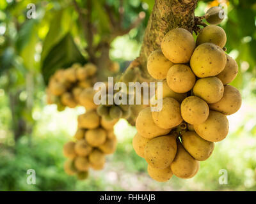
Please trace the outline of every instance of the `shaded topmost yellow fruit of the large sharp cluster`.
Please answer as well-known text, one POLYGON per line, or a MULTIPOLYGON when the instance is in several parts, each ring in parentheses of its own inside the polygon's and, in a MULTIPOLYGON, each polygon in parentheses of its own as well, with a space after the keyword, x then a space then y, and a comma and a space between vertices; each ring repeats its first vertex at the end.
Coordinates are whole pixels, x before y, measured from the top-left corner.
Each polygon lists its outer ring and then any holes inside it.
POLYGON ((200 31, 196 38, 196 46, 202 43, 214 43, 223 48, 227 42, 227 36, 222 27, 218 25, 208 25, 200 31))

